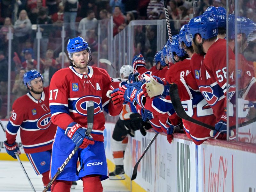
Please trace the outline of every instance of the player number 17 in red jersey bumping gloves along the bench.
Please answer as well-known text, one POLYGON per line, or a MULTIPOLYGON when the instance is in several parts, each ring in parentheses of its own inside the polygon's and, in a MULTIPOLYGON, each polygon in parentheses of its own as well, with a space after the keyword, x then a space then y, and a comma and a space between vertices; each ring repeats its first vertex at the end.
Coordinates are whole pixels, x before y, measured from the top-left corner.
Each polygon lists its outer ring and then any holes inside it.
POLYGON ((81 179, 84 192, 102 192, 101 181, 108 178, 103 110, 116 116, 122 106, 114 106, 106 95, 109 89, 113 89, 107 71, 87 66, 92 59, 87 42, 81 37, 69 39, 67 51, 71 66, 57 71, 50 84, 52 122, 58 126, 52 146, 50 177, 56 174, 76 146, 79 149, 53 182, 52 191, 69 192, 71 181, 81 179), (91 135, 87 136, 86 104, 90 100, 94 103, 94 124, 91 135), (79 172, 76 169, 78 158, 79 172))

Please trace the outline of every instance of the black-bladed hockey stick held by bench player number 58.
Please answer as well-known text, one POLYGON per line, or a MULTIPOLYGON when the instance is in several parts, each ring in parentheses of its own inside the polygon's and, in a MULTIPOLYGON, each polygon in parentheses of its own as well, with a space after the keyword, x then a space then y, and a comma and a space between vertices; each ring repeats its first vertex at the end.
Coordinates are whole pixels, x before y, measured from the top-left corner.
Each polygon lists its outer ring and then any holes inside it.
MULTIPOLYGON (((197 121, 196 119, 193 119, 192 117, 188 116, 188 114, 185 112, 185 110, 184 110, 184 108, 181 104, 179 91, 178 91, 178 86, 175 83, 170 86, 170 97, 171 97, 171 100, 172 100, 173 108, 174 108, 175 112, 177 113, 177 115, 180 118, 185 119, 187 121, 190 121, 194 124, 201 125, 201 126, 207 128, 207 129, 215 130, 215 127, 213 127, 212 125, 205 124, 201 121, 197 121)), ((254 118, 252 118, 252 119, 250 119, 246 122, 240 123, 238 125, 238 128, 240 128, 242 126, 245 126, 245 125, 248 125, 248 124, 251 124, 255 121, 256 121, 256 117, 254 117, 254 118)), ((231 126, 229 129, 230 130, 236 129, 236 125, 231 126)))

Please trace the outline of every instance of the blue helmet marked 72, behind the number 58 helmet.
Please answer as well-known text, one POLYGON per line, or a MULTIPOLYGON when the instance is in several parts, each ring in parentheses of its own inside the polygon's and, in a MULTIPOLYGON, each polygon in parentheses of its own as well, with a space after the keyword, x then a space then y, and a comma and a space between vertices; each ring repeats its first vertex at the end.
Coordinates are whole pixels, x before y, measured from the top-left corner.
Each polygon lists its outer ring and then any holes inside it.
POLYGON ((203 15, 210 14, 215 19, 218 28, 226 29, 226 9, 224 7, 208 7, 203 15))

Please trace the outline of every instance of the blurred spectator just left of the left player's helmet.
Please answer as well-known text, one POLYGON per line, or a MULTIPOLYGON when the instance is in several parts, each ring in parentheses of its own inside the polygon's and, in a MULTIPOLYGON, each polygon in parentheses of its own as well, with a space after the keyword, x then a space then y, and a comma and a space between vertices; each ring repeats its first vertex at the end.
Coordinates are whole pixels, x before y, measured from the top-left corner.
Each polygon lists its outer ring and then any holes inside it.
POLYGON ((13 101, 15 101, 20 96, 28 93, 28 89, 25 87, 23 83, 23 75, 25 74, 25 72, 26 70, 24 68, 20 68, 20 73, 18 75, 18 78, 15 80, 12 88, 12 94, 14 95, 13 101))

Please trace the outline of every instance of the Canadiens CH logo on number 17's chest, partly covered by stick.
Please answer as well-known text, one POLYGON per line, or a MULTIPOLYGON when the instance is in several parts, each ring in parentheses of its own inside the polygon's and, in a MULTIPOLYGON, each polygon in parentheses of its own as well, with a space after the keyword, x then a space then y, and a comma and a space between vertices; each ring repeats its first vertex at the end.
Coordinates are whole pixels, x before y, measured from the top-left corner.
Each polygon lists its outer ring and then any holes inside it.
POLYGON ((98 96, 84 96, 80 97, 77 99, 75 107, 76 111, 84 116, 87 116, 87 109, 86 105, 88 101, 93 101, 94 103, 94 115, 97 113, 100 113, 102 111, 102 106, 101 106, 101 98, 98 96))

